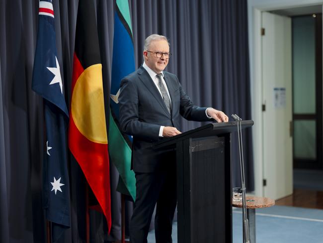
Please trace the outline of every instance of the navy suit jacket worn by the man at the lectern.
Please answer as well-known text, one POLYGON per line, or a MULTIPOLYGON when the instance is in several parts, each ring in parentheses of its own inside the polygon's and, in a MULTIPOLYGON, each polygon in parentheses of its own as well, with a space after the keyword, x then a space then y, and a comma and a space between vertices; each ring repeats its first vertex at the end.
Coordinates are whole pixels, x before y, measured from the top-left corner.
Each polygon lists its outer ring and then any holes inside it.
POLYGON ((120 125, 123 132, 133 136, 132 169, 135 172, 155 172, 174 163, 174 151, 154 149, 161 125, 179 127, 182 116, 192 121, 211 121, 206 108, 194 106, 182 90, 178 78, 163 71, 171 99, 171 114, 154 81, 143 66, 122 79, 120 84, 120 125))

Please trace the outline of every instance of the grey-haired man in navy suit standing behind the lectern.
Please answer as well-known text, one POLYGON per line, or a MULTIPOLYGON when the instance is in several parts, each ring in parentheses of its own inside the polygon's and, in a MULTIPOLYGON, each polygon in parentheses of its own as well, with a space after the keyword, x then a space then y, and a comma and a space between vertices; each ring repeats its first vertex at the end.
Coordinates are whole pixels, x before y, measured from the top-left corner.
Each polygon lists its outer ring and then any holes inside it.
POLYGON ((213 108, 194 106, 174 74, 163 71, 171 53, 167 38, 146 38, 144 64, 123 78, 119 107, 122 130, 133 136, 132 169, 136 175, 136 202, 130 223, 130 242, 147 243, 155 205, 156 243, 171 243, 176 208, 176 161, 172 149, 154 149, 163 137, 180 134, 179 118, 228 122, 213 108))

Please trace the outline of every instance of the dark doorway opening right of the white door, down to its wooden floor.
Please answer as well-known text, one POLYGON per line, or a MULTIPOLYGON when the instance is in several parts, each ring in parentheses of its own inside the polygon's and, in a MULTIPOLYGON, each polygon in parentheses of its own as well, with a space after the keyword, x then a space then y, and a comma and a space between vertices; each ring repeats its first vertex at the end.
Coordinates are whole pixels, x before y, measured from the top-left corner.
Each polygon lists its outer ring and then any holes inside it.
POLYGON ((295 206, 322 208, 323 204, 318 203, 323 200, 322 13, 293 16, 292 23, 294 64, 292 201, 295 206))

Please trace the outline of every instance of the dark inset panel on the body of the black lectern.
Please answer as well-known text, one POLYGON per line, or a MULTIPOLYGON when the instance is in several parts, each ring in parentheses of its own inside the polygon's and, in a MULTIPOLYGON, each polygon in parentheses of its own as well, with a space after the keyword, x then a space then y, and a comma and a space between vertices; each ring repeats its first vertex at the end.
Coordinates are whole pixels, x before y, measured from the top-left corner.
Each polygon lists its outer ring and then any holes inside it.
POLYGON ((225 139, 190 141, 191 242, 226 241, 225 139))

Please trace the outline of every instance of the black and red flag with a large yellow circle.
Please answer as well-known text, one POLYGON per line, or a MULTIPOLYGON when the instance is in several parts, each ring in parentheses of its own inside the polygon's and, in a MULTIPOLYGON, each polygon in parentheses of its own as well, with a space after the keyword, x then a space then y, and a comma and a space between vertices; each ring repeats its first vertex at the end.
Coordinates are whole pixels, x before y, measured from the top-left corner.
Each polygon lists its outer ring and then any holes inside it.
POLYGON ((93 0, 80 0, 70 109, 69 147, 111 228, 110 175, 102 65, 93 0))

